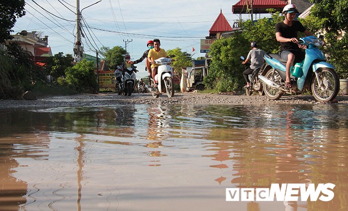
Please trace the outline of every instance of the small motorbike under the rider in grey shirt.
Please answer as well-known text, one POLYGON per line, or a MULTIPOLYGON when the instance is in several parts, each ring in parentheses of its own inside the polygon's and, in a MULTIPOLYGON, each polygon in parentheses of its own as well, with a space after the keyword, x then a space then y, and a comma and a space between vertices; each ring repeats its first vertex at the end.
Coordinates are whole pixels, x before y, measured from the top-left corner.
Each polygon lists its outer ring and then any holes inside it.
MULTIPOLYGON (((244 61, 245 58, 241 56, 241 61, 244 61)), ((247 70, 250 67, 251 63, 248 62, 245 64, 245 70, 247 70)), ((259 74, 262 73, 264 64, 255 69, 251 74, 248 75, 249 82, 250 82, 250 87, 245 87, 245 93, 246 95, 250 96, 253 94, 253 92, 259 92, 259 95, 263 95, 263 90, 262 90, 262 83, 259 79, 259 74)))

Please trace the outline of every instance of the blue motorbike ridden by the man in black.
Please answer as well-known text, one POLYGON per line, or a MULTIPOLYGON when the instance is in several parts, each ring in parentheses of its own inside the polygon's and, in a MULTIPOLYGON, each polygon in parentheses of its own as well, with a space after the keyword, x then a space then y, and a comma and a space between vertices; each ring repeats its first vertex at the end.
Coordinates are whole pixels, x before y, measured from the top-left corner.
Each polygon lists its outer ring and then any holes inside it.
POLYGON ((340 90, 340 81, 335 67, 326 62, 325 54, 318 48, 324 42, 315 36, 308 36, 300 38, 299 44, 307 47, 306 55, 302 63, 296 63, 290 69, 291 88, 285 86, 286 61, 279 54, 264 55, 266 66, 259 75, 264 94, 270 100, 277 100, 285 93, 301 93, 309 88, 317 101, 332 101, 340 90))

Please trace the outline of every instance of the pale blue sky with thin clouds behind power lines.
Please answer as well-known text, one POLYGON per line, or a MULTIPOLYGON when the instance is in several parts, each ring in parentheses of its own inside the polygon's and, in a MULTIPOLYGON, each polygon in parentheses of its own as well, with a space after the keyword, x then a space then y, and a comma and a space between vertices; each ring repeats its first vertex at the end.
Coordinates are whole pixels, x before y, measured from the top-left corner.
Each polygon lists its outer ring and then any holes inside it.
MULTIPOLYGON (((158 38, 165 50, 178 47, 191 53, 192 58, 201 57, 205 54, 200 53, 200 39, 209 36, 220 9, 231 27, 239 19, 239 15, 232 13, 232 5, 238 0, 101 0, 91 5, 97 1, 80 0, 82 43, 85 53, 92 56, 103 46, 125 48, 127 43, 134 61, 147 49, 147 41, 158 38)), ((59 52, 74 55, 77 0, 25 2, 26 15, 17 18, 12 34, 37 31, 41 37, 48 36, 53 55, 59 52)), ((145 61, 136 66, 138 79, 147 76, 145 61)))

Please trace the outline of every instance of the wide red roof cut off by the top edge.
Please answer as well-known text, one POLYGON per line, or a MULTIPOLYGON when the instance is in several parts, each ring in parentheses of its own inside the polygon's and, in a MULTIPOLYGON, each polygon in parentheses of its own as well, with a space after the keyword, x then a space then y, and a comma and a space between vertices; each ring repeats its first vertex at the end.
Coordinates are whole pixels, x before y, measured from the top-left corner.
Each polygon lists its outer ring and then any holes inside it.
MULTIPOLYGON (((240 0, 232 6, 232 13, 246 12, 251 8, 251 0, 240 0)), ((286 5, 285 0, 253 0, 253 13, 268 13, 266 9, 275 8, 277 11, 282 11, 286 5)))

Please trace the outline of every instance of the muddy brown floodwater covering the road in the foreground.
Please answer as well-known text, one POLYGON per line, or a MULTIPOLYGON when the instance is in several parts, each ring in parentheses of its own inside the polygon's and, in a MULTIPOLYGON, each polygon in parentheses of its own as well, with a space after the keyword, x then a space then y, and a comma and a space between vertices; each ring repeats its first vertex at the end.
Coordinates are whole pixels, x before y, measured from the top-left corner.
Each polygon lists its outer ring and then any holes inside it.
POLYGON ((346 211, 345 104, 0 110, 0 211, 346 211), (334 198, 226 202, 333 183, 334 198))

